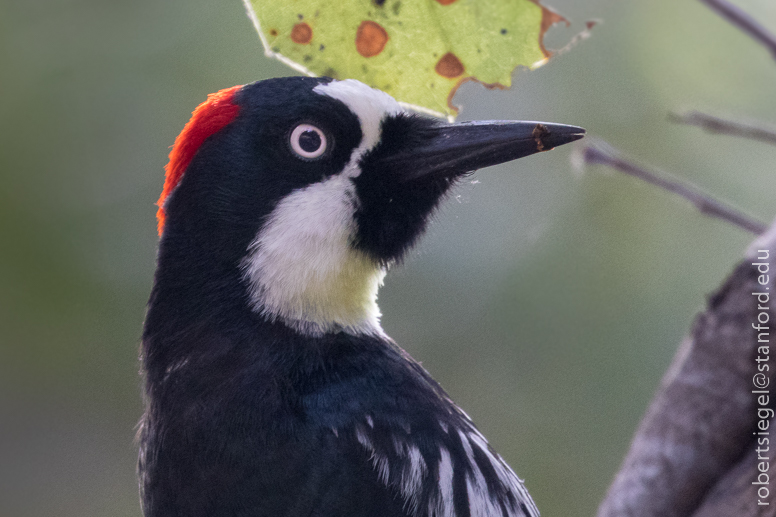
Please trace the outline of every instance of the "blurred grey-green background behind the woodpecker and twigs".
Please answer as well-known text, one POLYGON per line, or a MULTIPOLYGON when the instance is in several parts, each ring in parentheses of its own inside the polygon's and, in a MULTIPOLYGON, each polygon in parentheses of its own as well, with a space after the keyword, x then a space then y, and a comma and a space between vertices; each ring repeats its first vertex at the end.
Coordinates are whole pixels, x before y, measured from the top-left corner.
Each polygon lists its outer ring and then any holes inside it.
MULTIPOLYGON (((460 120, 578 124, 770 221, 776 63, 700 2, 547 0, 593 36, 460 120)), ((776 30, 772 0, 739 4, 776 30)), ((0 3, 0 517, 140 515, 137 350, 168 146, 206 94, 290 75, 238 0, 0 3)), ((751 236, 561 148, 477 173, 381 293, 387 332, 527 478, 592 515, 704 297, 751 236)))

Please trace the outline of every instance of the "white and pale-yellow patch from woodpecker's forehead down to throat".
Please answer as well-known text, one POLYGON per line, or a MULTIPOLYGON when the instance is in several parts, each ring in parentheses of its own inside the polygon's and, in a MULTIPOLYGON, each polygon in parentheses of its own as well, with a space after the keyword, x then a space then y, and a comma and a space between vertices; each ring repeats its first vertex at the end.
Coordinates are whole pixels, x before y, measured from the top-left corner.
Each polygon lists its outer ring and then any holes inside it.
POLYGON ((353 80, 313 90, 359 118, 362 139, 339 174, 278 203, 242 262, 255 311, 306 335, 342 330, 381 335, 377 291, 385 269, 352 246, 359 160, 380 140, 380 124, 402 109, 389 95, 353 80))

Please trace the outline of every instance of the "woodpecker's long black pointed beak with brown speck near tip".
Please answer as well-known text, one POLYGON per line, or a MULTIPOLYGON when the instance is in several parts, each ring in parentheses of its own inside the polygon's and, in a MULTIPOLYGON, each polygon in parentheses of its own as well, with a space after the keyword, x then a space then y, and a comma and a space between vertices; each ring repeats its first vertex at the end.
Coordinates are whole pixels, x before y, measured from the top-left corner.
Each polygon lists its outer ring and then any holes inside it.
POLYGON ((491 120, 426 128, 423 143, 380 159, 402 179, 454 177, 579 140, 585 130, 545 122, 491 120))

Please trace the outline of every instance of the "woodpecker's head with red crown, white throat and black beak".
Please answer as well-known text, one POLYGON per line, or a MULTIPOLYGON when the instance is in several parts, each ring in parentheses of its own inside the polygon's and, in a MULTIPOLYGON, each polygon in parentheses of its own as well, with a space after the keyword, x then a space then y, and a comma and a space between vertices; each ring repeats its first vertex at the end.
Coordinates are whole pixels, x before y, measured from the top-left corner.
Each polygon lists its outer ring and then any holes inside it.
POLYGON ((220 278, 239 279, 256 314, 298 332, 379 333, 387 267, 456 180, 583 133, 537 122, 444 124, 354 80, 222 90, 170 153, 157 284, 218 291, 228 284, 220 278), (163 273, 171 262, 182 278, 163 273))

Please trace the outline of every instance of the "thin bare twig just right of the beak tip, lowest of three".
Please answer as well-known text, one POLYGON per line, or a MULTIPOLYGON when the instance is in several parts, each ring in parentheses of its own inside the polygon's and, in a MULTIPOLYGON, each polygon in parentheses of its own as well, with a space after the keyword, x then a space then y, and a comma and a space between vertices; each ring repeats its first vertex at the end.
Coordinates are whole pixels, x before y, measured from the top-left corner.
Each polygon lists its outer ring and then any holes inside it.
POLYGON ((683 183, 679 180, 668 178, 665 174, 658 174, 626 160, 610 145, 601 141, 589 143, 582 152, 584 163, 607 165, 620 172, 639 178, 664 190, 677 194, 690 203, 703 214, 728 221, 739 228, 743 228, 754 234, 761 234, 768 225, 750 217, 749 215, 733 208, 732 206, 714 199, 694 185, 683 183))

